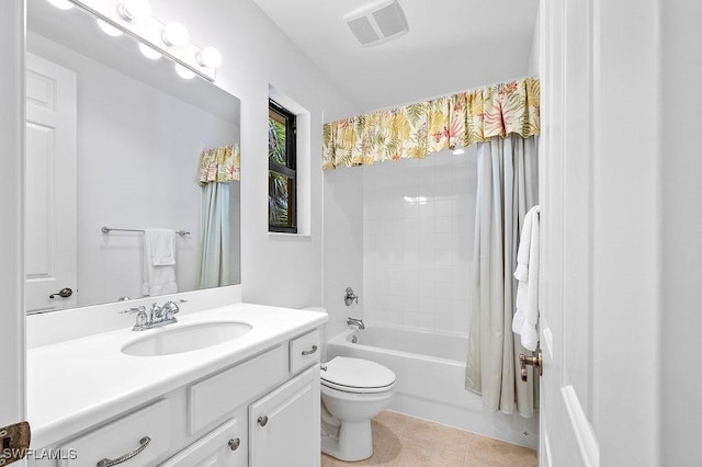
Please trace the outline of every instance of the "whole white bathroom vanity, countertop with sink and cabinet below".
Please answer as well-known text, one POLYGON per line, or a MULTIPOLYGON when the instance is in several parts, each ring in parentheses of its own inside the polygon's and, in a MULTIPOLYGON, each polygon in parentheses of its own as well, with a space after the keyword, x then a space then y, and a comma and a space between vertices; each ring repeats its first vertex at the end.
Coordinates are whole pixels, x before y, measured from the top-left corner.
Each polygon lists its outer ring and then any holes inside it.
POLYGON ((322 314, 251 304, 27 351, 30 466, 317 466, 322 314))

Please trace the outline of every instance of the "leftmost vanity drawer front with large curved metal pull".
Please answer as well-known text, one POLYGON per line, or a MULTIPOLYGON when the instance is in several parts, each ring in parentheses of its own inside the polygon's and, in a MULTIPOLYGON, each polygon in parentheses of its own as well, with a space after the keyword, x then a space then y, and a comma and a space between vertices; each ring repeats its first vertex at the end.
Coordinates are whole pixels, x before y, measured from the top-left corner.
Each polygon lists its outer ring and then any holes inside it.
POLYGON ((60 467, 95 467, 103 459, 136 453, 132 465, 154 465, 173 444, 173 408, 160 400, 61 446, 72 449, 73 459, 61 459, 60 467), (145 441, 148 436, 148 440, 145 441), (146 445, 146 447, 144 447, 146 445))

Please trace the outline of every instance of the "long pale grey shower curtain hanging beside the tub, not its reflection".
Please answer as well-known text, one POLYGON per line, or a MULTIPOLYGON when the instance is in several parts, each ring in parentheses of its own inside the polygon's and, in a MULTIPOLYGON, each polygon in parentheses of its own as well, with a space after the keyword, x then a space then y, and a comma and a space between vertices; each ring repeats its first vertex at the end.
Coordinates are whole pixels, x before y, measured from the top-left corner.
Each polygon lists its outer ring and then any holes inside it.
POLYGON ((466 389, 483 397, 486 410, 518 411, 531 417, 539 380, 531 367, 521 380, 519 354, 525 351, 512 333, 517 295, 513 272, 520 229, 537 203, 536 137, 510 134, 478 144, 474 286, 466 389))

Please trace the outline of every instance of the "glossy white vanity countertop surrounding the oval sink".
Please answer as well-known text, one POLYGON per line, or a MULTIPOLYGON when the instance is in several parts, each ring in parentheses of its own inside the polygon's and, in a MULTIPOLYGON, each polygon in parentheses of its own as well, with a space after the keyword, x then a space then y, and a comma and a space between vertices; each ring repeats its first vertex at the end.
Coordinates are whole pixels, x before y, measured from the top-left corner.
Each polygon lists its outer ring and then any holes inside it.
POLYGON ((27 419, 32 425, 32 447, 55 446, 75 433, 327 320, 327 316, 319 312, 251 304, 228 305, 177 318, 177 323, 162 328, 121 329, 29 350, 27 419), (240 321, 253 329, 236 340, 191 352, 159 356, 122 353, 128 342, 149 333, 210 321, 240 321))

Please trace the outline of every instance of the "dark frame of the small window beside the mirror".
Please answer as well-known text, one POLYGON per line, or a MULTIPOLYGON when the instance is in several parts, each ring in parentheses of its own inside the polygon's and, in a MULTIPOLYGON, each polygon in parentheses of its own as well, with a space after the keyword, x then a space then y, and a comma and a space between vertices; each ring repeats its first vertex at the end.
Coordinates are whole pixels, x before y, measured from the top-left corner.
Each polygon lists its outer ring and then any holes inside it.
MULTIPOLYGON (((274 172, 286 176, 291 184, 288 186, 288 204, 287 204, 287 218, 288 225, 281 226, 271 224, 270 217, 270 203, 269 203, 269 232, 281 234, 297 234, 297 115, 283 107, 278 102, 269 99, 269 118, 271 114, 276 114, 285 122, 285 149, 286 149, 286 163, 280 164, 271 160, 269 155, 268 170, 269 170, 269 183, 271 183, 270 172, 274 172)), ((275 118, 278 122, 281 119, 275 118)), ((270 187, 269 187, 270 195, 270 187)))

